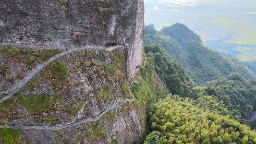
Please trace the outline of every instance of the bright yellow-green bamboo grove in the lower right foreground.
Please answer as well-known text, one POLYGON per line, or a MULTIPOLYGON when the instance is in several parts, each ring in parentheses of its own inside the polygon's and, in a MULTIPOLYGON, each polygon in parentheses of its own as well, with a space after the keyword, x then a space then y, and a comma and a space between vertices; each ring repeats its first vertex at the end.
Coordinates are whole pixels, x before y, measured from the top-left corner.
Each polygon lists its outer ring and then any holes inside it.
POLYGON ((224 107, 212 96, 168 95, 148 108, 144 144, 255 144, 256 132, 224 116, 224 107))

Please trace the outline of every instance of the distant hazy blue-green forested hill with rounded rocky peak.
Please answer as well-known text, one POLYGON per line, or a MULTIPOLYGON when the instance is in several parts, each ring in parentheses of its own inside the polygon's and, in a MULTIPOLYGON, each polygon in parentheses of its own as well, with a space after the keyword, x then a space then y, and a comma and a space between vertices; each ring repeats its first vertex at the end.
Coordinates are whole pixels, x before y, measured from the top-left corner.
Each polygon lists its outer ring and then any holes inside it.
POLYGON ((216 50, 205 47, 199 36, 183 24, 174 24, 156 31, 153 24, 145 25, 144 45, 156 43, 164 48, 171 58, 178 60, 187 70, 188 75, 198 85, 220 77, 225 77, 232 72, 239 72, 242 77, 256 79, 252 71, 244 64, 230 56, 221 55, 216 50), (173 29, 179 25, 181 36, 173 29), (188 38, 188 37, 192 38, 188 38))

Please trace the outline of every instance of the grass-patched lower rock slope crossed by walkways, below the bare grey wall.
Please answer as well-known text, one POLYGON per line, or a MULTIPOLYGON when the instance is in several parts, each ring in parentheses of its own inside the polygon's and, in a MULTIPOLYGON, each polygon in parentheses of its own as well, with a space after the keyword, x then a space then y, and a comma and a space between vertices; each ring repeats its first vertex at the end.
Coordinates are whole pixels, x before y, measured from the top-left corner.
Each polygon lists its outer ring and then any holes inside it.
MULTIPOLYGON (((60 52, 0 47, 4 62, 0 65, 1 97, 7 95, 2 93, 5 88, 16 87, 38 64, 44 65, 39 51, 44 56, 60 52), (19 55, 10 55, 10 50, 19 55)), ((8 119, 8 128, 21 126, 22 140, 32 144, 141 142, 145 109, 131 103, 134 97, 125 81, 125 55, 123 50, 105 49, 64 53, 0 104, 0 120, 8 119)))

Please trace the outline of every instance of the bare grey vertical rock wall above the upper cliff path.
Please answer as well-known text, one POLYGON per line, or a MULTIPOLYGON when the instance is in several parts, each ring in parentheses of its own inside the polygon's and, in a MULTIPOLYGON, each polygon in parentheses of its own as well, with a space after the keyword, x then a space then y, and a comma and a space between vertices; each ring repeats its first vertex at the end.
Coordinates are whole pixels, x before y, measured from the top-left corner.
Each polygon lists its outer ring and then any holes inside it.
POLYGON ((128 75, 142 64, 143 0, 1 0, 0 45, 128 51, 128 75))

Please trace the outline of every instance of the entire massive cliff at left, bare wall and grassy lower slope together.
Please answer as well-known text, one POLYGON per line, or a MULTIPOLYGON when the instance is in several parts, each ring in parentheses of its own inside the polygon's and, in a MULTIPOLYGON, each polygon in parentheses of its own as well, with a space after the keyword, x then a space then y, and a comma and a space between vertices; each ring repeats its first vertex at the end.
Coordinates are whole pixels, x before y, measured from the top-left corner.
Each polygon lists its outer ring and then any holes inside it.
POLYGON ((21 125, 19 139, 142 141, 145 108, 132 104, 127 81, 142 65, 144 0, 1 0, 0 5, 0 120, 8 119, 8 128, 21 125), (107 51, 117 45, 120 49, 107 51), (10 96, 17 84, 23 88, 10 96))

